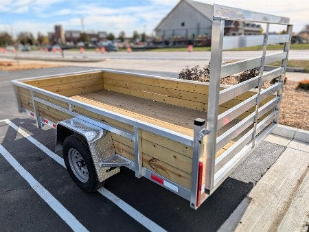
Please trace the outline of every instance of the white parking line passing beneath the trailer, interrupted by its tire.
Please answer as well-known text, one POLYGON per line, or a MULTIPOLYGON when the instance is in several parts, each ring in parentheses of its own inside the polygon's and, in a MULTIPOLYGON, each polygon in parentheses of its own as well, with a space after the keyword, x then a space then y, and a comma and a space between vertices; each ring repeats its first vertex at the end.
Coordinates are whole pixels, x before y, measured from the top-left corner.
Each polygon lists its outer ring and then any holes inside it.
MULTIPOLYGON (((54 159, 54 161, 56 161, 57 163, 62 165, 62 167, 65 167, 65 162, 63 161, 62 157, 58 156, 58 154, 56 154, 56 153, 52 152, 51 150, 49 150, 48 148, 46 148, 42 143, 40 143, 39 141, 37 141, 36 139, 31 137, 31 135, 29 135, 27 132, 25 132, 25 130, 23 130, 23 129, 19 128, 18 126, 16 126, 15 124, 13 124, 12 121, 10 121, 8 119, 5 119, 3 121, 5 121, 6 124, 8 124, 12 128, 14 128, 14 130, 19 132, 23 137, 28 139, 30 142, 34 143, 35 146, 40 148, 49 157, 54 159)), ((123 200, 121 200, 117 196, 115 196, 115 194, 113 194, 112 192, 109 192, 104 187, 98 189, 98 192, 100 194, 102 194, 102 196, 105 196, 106 198, 108 198, 108 200, 111 200, 111 202, 113 202, 115 205, 117 205, 117 207, 122 209, 129 216, 131 216, 133 219, 135 219, 137 222, 142 224, 144 227, 146 227, 150 231, 165 231, 165 229, 160 227, 155 222, 152 222, 152 220, 150 220, 149 218, 144 216, 142 213, 140 213, 139 211, 137 211, 136 209, 134 209, 133 207, 128 205, 126 202, 124 202, 123 200)))

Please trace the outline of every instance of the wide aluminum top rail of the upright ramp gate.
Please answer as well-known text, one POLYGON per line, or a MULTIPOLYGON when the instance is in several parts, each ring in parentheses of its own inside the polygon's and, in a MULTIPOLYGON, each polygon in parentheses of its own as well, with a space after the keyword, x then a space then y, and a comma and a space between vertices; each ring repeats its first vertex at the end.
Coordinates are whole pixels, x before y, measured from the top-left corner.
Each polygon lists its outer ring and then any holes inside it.
POLYGON ((290 19, 282 16, 253 12, 250 10, 242 10, 231 8, 225 5, 214 4, 214 17, 220 19, 231 19, 238 21, 252 21, 258 23, 275 23, 287 25, 290 19))

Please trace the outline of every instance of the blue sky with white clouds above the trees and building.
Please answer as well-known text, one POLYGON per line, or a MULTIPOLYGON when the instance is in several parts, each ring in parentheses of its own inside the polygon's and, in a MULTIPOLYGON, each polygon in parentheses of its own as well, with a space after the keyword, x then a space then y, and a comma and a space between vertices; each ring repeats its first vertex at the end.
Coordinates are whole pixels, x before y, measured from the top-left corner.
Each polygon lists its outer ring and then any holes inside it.
MULTIPOLYGON (((107 31, 118 35, 124 30, 131 35, 133 30, 150 34, 155 26, 170 12, 179 0, 0 0, 0 30, 10 33, 30 31, 51 32, 55 24, 65 30, 107 31)), ((299 32, 309 24, 308 0, 200 0, 236 8, 244 8, 288 16, 299 32)), ((273 28, 277 30, 277 28, 273 28)))

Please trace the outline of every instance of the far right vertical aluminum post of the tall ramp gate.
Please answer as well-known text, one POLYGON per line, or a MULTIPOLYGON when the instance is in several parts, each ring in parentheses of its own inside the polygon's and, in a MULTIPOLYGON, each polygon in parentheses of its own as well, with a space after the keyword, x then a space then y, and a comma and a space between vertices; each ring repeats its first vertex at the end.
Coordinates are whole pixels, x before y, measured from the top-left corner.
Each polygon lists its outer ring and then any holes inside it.
MULTIPOLYGON (((292 30, 293 30, 293 25, 288 25, 286 27, 286 34, 290 35, 290 40, 292 39, 292 30)), ((290 51, 290 41, 287 43, 284 43, 284 51, 286 51, 286 58, 284 60, 282 60, 281 62, 281 67, 284 67, 284 74, 282 76, 279 76, 279 82, 282 82, 282 89, 280 89, 279 91, 277 91, 277 97, 280 97, 280 100, 277 104, 277 106, 275 106, 275 111, 277 112, 277 117, 275 117, 275 124, 279 123, 279 113, 280 113, 280 104, 282 101, 282 91, 284 88, 284 78, 286 76, 286 66, 288 66, 288 53, 290 51)))

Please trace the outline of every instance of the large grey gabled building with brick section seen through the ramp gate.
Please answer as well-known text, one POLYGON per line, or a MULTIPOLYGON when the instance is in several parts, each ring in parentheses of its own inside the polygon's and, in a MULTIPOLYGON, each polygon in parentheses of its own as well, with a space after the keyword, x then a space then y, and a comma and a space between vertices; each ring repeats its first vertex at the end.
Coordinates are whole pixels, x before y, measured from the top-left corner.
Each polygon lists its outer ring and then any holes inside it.
MULTIPOLYGON (((155 27, 160 38, 211 36, 214 6, 198 1, 181 0, 155 27)), ((260 25, 240 21, 225 21, 226 35, 261 34, 260 25)))

